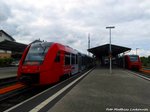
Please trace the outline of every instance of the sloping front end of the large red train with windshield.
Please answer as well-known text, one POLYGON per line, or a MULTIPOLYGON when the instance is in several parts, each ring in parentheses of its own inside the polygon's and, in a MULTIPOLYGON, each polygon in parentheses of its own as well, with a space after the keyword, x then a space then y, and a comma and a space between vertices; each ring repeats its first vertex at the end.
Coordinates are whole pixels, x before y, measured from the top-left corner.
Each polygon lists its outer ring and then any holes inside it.
POLYGON ((18 67, 18 80, 28 85, 39 85, 41 66, 49 47, 33 43, 26 48, 18 67))

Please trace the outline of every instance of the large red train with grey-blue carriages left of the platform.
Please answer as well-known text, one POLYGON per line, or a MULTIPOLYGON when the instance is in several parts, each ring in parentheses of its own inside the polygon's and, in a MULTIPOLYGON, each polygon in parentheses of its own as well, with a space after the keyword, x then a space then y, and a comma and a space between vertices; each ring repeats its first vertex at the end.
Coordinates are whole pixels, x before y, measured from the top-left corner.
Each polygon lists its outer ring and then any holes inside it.
POLYGON ((58 82, 92 66, 93 59, 59 43, 36 42, 24 51, 18 67, 18 80, 33 85, 58 82))

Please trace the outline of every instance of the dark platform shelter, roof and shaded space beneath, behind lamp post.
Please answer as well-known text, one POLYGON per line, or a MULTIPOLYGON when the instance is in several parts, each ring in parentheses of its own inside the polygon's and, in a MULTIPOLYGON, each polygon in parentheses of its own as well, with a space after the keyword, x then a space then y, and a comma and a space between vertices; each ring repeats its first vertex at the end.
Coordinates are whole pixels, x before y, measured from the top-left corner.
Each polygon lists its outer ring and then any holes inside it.
POLYGON ((96 58, 96 64, 100 64, 102 66, 109 64, 109 58, 112 59, 112 63, 115 63, 115 59, 121 53, 126 53, 131 50, 131 48, 113 45, 111 44, 111 53, 110 53, 110 44, 105 44, 102 46, 97 46, 94 48, 88 49, 90 53, 96 58))

